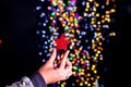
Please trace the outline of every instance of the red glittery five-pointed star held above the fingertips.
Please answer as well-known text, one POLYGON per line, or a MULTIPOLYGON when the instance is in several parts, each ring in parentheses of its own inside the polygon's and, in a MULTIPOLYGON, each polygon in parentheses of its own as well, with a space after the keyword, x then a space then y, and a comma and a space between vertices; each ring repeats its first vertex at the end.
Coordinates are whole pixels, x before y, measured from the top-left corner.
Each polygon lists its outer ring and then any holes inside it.
POLYGON ((66 51, 68 45, 70 44, 70 39, 66 39, 66 36, 63 34, 60 36, 60 38, 55 39, 55 41, 57 44, 57 50, 62 49, 66 51))

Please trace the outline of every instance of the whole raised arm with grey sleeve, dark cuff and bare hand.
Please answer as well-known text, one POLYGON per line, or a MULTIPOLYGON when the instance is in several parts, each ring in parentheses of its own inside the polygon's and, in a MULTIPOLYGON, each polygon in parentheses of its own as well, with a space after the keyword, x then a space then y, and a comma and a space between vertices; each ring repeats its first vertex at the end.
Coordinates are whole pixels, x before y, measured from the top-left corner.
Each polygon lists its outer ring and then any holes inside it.
POLYGON ((53 66, 53 61, 57 55, 57 51, 55 49, 49 60, 31 77, 24 76, 20 82, 15 82, 5 87, 47 87, 47 84, 68 79, 68 77, 72 75, 72 65, 67 59, 68 54, 69 51, 64 53, 60 66, 56 69, 53 66))

